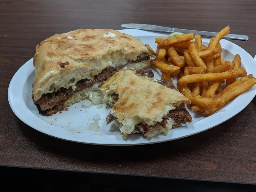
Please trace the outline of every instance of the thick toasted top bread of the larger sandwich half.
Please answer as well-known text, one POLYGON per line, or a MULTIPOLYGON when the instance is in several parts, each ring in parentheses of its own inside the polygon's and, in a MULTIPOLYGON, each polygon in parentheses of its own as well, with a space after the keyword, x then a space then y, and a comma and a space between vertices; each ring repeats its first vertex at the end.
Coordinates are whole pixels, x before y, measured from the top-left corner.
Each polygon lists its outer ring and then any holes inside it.
POLYGON ((36 46, 34 100, 81 79, 92 79, 116 63, 136 60, 141 53, 148 53, 148 49, 139 39, 113 29, 56 34, 36 46))

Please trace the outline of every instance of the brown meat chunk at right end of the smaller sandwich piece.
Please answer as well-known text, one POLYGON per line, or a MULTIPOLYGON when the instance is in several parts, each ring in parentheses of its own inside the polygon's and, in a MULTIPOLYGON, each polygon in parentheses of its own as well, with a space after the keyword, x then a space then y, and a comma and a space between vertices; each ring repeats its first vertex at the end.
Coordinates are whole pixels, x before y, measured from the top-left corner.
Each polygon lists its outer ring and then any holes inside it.
POLYGON ((192 121, 192 117, 189 114, 187 109, 174 109, 169 111, 169 114, 166 116, 167 118, 173 118, 176 123, 189 123, 192 121))

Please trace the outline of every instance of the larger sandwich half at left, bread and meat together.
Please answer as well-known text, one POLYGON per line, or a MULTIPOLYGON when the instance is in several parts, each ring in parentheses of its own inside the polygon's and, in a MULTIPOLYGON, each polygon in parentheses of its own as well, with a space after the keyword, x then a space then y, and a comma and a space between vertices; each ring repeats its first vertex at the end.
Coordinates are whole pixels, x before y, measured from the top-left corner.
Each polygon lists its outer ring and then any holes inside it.
POLYGON ((45 116, 85 98, 100 104, 99 87, 108 77, 149 67, 152 54, 139 39, 113 29, 56 34, 36 46, 33 101, 45 116))

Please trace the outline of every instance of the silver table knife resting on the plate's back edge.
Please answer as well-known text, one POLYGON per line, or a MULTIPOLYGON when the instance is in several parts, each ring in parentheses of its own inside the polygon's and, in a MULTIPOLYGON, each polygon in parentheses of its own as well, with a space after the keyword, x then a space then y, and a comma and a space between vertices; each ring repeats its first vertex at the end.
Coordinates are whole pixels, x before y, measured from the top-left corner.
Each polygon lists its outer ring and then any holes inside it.
MULTIPOLYGON (((176 29, 169 27, 161 27, 157 25, 148 25, 148 24, 139 24, 139 23, 127 23, 121 25, 124 28, 134 28, 134 29, 143 29, 147 31, 157 31, 157 32, 166 32, 166 33, 194 33, 204 37, 213 37, 216 36, 217 33, 209 32, 209 31, 196 31, 196 30, 188 30, 188 29, 176 29)), ((227 34, 227 36, 223 37, 223 39, 234 39, 241 41, 248 41, 249 37, 247 35, 236 35, 236 34, 227 34)))

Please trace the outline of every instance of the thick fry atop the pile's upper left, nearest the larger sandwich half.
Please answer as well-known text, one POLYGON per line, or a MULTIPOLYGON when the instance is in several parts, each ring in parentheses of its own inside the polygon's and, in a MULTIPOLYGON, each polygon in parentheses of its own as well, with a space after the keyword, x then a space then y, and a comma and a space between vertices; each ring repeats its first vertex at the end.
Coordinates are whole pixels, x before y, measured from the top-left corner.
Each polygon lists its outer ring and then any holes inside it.
POLYGON ((185 41, 191 41, 192 39, 194 39, 194 33, 182 34, 182 35, 174 36, 172 38, 161 41, 157 45, 157 47, 158 48, 166 47, 166 46, 170 46, 172 44, 182 43, 185 41))

